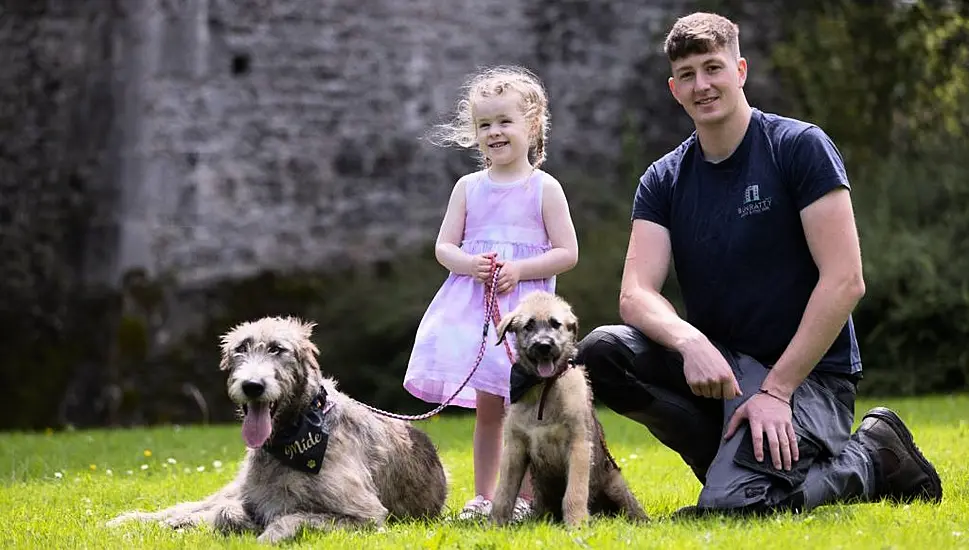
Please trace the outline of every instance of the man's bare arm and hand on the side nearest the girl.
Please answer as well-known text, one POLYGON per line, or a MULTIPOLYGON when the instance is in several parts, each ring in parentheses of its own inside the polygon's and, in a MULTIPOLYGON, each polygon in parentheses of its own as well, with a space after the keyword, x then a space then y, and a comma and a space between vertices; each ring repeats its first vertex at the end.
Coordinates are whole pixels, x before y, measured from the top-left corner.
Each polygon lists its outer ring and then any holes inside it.
POLYGON ((680 318, 660 291, 669 274, 669 231, 654 222, 634 220, 619 293, 623 321, 651 340, 683 356, 683 373, 696 395, 733 399, 740 386, 730 365, 707 337, 680 318))

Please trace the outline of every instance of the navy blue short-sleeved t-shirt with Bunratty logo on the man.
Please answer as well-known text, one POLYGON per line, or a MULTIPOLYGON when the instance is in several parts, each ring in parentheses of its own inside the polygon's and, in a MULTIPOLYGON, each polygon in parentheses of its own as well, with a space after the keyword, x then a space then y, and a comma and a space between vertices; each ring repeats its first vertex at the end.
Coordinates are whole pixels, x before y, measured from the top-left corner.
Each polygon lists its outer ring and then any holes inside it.
MULTIPOLYGON (((650 165, 632 217, 669 230, 686 320, 769 366, 818 282, 800 211, 838 187, 850 188, 848 177, 824 131, 754 109, 727 159, 707 162, 694 133, 650 165)), ((850 317, 816 369, 861 372, 850 317)))

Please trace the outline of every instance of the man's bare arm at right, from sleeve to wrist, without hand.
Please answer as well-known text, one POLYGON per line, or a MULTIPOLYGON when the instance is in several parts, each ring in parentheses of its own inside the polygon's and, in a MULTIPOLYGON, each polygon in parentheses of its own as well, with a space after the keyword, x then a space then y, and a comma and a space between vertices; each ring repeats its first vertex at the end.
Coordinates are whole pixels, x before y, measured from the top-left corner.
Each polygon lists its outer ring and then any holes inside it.
POLYGON ((788 401, 834 343, 865 294, 861 245, 848 190, 832 190, 805 207, 801 224, 818 266, 818 283, 794 338, 761 385, 788 401))

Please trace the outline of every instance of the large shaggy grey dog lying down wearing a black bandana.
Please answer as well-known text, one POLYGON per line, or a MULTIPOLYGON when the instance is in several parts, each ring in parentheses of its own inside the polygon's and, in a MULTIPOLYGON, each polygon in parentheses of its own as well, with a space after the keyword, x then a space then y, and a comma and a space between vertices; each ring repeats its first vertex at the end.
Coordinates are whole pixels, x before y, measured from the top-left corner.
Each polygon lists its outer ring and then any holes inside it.
POLYGON ((304 527, 440 515, 447 477, 437 449, 409 423, 378 416, 337 390, 320 372, 314 326, 265 317, 225 334, 220 367, 245 414, 248 450, 238 475, 205 500, 128 512, 109 525, 208 523, 278 542, 304 527))

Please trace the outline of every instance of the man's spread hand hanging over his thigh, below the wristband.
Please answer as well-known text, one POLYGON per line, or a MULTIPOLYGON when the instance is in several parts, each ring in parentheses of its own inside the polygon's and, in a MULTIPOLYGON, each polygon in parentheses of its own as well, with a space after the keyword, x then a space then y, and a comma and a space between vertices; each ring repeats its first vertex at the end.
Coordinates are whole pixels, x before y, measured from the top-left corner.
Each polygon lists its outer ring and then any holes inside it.
POLYGON ((779 397, 765 393, 751 396, 730 417, 723 438, 730 439, 744 419, 750 424, 750 437, 753 440, 754 458, 757 462, 764 461, 764 436, 766 435, 774 468, 780 470, 783 467, 790 471, 793 463, 800 458, 790 404, 785 404, 779 397))

